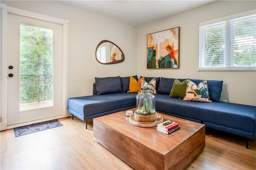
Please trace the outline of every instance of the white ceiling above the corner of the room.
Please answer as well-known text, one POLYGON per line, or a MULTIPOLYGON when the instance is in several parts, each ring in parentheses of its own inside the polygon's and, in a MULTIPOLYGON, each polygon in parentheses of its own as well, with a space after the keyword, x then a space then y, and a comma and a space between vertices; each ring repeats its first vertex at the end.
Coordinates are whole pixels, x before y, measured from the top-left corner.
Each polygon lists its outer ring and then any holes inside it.
POLYGON ((138 27, 214 1, 216 0, 60 0, 59 2, 138 27))

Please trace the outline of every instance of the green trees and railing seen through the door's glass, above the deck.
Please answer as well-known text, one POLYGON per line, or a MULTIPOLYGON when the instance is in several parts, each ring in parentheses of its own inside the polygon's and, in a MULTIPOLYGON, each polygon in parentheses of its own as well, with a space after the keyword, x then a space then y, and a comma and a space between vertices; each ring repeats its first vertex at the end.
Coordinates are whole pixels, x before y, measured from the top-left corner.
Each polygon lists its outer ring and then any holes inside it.
POLYGON ((52 99, 52 61, 53 31, 21 24, 20 102, 52 99))

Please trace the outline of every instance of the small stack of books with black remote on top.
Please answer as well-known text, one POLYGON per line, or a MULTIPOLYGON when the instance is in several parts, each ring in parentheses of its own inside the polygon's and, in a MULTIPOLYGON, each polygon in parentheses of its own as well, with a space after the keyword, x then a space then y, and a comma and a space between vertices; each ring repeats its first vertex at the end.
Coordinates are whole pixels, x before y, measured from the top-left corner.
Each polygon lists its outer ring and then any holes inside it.
POLYGON ((180 125, 172 121, 164 121, 157 125, 157 130, 166 134, 170 134, 178 129, 180 129, 180 125))

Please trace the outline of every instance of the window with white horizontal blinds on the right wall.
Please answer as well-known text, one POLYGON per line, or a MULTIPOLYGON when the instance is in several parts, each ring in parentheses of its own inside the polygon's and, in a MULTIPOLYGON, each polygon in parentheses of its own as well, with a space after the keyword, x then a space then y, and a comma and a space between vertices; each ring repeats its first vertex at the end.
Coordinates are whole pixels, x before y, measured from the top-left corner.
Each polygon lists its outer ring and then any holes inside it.
POLYGON ((255 13, 200 23, 199 69, 256 69, 255 13))

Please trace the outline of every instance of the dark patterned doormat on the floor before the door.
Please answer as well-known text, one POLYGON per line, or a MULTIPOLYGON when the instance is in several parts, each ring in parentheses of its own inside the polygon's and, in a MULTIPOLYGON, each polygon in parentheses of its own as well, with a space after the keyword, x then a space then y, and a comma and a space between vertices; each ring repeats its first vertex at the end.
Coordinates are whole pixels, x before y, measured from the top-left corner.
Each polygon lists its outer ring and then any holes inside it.
POLYGON ((57 119, 14 128, 15 137, 63 126, 57 119))

